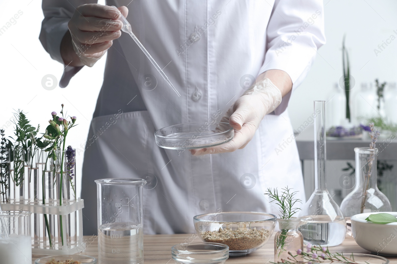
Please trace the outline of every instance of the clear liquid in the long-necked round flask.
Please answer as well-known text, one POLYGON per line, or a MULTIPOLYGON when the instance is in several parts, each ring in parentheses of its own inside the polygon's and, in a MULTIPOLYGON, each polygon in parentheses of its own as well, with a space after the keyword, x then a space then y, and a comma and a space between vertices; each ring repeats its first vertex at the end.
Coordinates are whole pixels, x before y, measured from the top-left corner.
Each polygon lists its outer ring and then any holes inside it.
POLYGON ((304 243, 332 247, 339 245, 346 237, 346 221, 343 217, 335 217, 335 221, 327 221, 327 215, 301 217, 299 231, 304 243))

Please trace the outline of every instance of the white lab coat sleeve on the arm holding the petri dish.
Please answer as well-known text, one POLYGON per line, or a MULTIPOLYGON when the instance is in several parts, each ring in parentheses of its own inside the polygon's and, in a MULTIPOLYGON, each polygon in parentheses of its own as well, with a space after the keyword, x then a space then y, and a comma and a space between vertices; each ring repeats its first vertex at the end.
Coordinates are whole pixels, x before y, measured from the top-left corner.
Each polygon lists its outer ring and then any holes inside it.
POLYGON ((283 97, 275 114, 288 105, 291 93, 306 77, 319 47, 325 44, 322 0, 276 0, 267 28, 267 47, 259 74, 283 70, 291 77, 292 90, 283 97))

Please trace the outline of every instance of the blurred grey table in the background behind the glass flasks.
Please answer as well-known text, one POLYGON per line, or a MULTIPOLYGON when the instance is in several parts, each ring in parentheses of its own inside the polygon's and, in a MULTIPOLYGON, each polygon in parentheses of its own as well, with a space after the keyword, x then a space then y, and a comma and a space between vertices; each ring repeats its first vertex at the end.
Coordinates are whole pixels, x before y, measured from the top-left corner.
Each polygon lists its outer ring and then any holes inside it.
MULTIPOLYGON (((366 133, 364 131, 364 133, 366 133)), ((299 159, 301 160, 302 173, 304 180, 304 187, 306 193, 306 199, 309 198, 310 194, 314 191, 314 134, 313 126, 309 125, 306 127, 301 134, 295 135, 299 159)), ((396 195, 396 166, 397 166, 397 141, 391 141, 386 139, 380 139, 376 144, 379 149, 378 161, 386 162, 388 165, 393 166, 391 170, 385 170, 383 173, 378 169, 378 187, 379 189, 389 198, 393 211, 397 210, 397 195, 396 195), (382 148, 380 148, 382 144, 382 148)), ((354 174, 352 172, 343 171, 343 168, 348 167, 347 163, 355 165, 355 152, 354 148, 357 147, 368 147, 370 144, 369 139, 357 139, 357 140, 327 140, 327 186, 328 190, 333 196, 333 199, 338 204, 341 203, 342 199, 349 194, 355 185, 354 174), (353 178, 353 179, 352 179, 353 178), (348 179, 352 180, 352 184, 344 186, 343 182, 348 179)))

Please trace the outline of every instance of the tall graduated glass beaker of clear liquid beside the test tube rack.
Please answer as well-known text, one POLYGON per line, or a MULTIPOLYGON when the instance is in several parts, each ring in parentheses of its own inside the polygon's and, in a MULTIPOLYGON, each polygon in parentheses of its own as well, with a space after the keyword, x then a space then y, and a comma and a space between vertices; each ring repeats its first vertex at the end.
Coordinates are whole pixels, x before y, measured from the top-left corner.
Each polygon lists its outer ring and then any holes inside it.
POLYGON ((95 180, 100 264, 143 263, 143 179, 95 180))

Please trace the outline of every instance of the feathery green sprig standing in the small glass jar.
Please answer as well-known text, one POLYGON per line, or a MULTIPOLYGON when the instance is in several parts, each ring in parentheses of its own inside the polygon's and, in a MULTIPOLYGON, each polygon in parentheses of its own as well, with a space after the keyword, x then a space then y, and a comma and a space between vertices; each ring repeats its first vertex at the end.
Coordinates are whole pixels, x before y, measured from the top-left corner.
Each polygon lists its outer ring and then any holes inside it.
MULTIPOLYGON (((268 195, 272 201, 276 201, 276 205, 280 208, 279 217, 281 219, 291 219, 295 213, 297 213, 301 208, 295 208, 295 203, 302 203, 301 199, 294 198, 297 192, 290 192, 292 188, 285 187, 281 190, 281 195, 279 195, 277 188, 273 191, 268 188, 265 195, 268 195)), ((284 247, 286 245, 285 239, 287 238, 288 229, 281 229, 281 234, 276 240, 276 251, 279 250, 278 256, 280 256, 282 251, 285 251, 284 247)))

